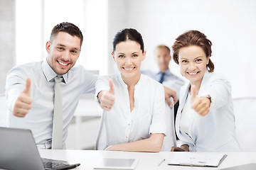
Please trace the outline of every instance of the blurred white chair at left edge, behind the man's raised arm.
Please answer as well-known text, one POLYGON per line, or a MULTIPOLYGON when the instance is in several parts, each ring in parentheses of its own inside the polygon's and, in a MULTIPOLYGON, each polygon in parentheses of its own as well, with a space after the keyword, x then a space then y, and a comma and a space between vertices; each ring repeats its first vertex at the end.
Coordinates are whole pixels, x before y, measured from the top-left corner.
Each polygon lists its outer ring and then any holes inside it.
POLYGON ((0 127, 7 126, 7 106, 6 97, 4 94, 0 94, 0 127))

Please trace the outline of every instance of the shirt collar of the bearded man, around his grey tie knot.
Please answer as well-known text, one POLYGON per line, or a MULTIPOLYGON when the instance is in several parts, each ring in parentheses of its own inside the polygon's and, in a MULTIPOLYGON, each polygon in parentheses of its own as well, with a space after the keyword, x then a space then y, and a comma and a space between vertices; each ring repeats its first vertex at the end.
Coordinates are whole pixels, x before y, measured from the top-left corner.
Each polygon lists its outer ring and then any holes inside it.
MULTIPOLYGON (((54 79, 54 77, 58 76, 53 69, 50 67, 50 65, 48 64, 48 62, 45 60, 43 60, 42 62, 42 70, 43 70, 43 74, 46 77, 47 81, 51 81, 52 79, 54 79)), ((68 72, 66 74, 62 75, 63 77, 63 81, 65 84, 68 83, 68 72)))

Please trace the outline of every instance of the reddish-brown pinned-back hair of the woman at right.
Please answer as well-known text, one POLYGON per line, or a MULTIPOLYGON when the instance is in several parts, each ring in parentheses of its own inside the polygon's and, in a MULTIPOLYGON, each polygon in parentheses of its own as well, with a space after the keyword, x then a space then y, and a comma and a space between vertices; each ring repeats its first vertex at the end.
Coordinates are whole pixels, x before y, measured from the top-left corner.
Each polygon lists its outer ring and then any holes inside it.
MULTIPOLYGON (((183 33, 176 38, 174 45, 172 46, 173 49, 173 59, 174 62, 178 64, 178 52, 182 47, 188 47, 191 45, 196 45, 203 48, 203 51, 206 53, 206 57, 210 57, 212 50, 211 45, 212 42, 206 38, 206 35, 201 33, 198 30, 188 30, 186 33, 183 33)), ((206 65, 208 72, 214 71, 214 64, 209 59, 209 63, 206 65)))

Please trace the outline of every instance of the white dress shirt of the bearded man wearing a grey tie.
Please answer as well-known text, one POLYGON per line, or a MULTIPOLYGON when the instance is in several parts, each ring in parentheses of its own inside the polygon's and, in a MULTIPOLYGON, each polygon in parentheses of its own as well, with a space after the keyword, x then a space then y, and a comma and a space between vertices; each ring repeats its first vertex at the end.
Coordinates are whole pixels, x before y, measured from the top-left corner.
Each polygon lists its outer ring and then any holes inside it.
MULTIPOLYGON (((46 60, 31 62, 11 69, 6 79, 6 99, 9 108, 7 117, 10 128, 30 129, 40 148, 49 148, 53 130, 54 77, 57 74, 46 60), (26 79, 31 78, 30 95, 32 108, 24 118, 12 114, 14 103, 25 89, 26 79)), ((95 92, 97 76, 75 65, 63 75, 60 82, 63 96, 63 147, 70 123, 82 94, 95 92)))

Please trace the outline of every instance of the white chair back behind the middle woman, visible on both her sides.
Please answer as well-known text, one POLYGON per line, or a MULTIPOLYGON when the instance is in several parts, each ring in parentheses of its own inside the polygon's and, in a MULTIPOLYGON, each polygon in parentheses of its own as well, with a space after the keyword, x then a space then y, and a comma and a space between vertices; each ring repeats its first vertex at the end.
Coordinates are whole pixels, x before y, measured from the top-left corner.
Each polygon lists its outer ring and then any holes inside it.
MULTIPOLYGON (((174 99, 170 98, 174 103, 174 99)), ((107 130, 105 128, 105 115, 102 114, 100 123, 100 130, 97 136, 95 150, 103 150, 107 147, 107 130)), ((166 136, 161 151, 171 151, 171 147, 176 146, 176 135, 174 131, 174 107, 170 108, 165 104, 165 123, 166 123, 166 136)))

